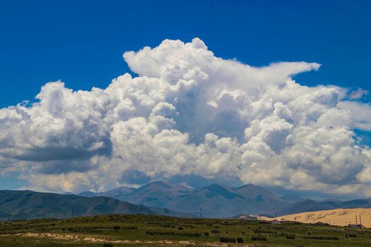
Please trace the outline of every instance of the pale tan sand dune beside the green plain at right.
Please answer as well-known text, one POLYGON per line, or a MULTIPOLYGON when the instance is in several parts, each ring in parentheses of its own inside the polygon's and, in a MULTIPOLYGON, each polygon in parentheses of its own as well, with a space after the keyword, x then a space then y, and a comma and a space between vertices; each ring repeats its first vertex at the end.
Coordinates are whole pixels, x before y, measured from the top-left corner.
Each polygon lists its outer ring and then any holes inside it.
MULTIPOLYGON (((371 209, 332 209, 324 211, 314 211, 306 213, 296 213, 292 215, 284 215, 277 217, 277 220, 291 220, 294 221, 296 217, 297 222, 313 223, 323 222, 337 226, 348 226, 348 224, 355 224, 355 217, 357 215, 357 222, 359 224, 359 215, 361 215, 361 223, 367 228, 371 228, 371 209)), ((274 218, 262 217, 262 220, 273 220, 274 218)))

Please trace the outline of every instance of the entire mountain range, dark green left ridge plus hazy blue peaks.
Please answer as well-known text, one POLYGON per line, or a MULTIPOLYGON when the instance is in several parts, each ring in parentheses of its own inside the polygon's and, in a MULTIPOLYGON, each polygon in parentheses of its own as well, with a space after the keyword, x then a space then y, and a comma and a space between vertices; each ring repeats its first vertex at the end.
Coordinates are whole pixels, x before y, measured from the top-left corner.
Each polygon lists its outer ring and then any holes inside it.
POLYGON ((0 191, 0 220, 39 217, 68 218, 109 213, 153 214, 175 217, 227 218, 232 215, 289 215, 329 209, 371 208, 371 198, 315 201, 297 196, 278 197, 256 185, 229 187, 213 184, 190 188, 157 181, 137 189, 117 187, 78 195, 35 191, 0 191))

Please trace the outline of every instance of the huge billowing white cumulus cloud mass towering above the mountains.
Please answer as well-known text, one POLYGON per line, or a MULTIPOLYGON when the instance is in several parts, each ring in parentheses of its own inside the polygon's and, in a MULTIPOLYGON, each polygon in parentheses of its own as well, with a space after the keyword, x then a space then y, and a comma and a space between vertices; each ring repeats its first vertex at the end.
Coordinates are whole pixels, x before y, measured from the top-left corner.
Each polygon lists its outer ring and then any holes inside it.
POLYGON ((172 176, 371 196, 371 130, 359 89, 301 86, 312 62, 250 67, 199 38, 128 51, 106 89, 49 82, 38 102, 0 110, 0 167, 30 189, 103 190, 172 176))

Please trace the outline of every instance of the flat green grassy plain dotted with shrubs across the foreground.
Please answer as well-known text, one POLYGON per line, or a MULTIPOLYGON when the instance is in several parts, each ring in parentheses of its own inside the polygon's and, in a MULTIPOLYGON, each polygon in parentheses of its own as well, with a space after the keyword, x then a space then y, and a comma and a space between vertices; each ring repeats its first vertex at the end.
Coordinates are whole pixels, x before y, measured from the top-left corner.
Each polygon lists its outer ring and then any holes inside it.
POLYGON ((371 246, 371 230, 257 220, 99 215, 0 222, 0 246, 371 246), (223 243, 221 243, 223 242, 223 243))

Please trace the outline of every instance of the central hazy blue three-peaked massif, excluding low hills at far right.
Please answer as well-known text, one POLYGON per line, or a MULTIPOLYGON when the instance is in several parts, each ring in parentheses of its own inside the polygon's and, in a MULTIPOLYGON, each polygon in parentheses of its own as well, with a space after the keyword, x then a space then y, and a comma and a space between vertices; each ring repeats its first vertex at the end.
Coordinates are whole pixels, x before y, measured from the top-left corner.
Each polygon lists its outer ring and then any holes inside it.
POLYGON ((230 217, 238 213, 274 214, 292 204, 255 185, 232 188, 214 184, 190 189, 163 181, 149 183, 126 195, 120 196, 117 193, 115 198, 133 204, 144 204, 146 207, 166 208, 195 215, 199 215, 201 207, 205 217, 230 217))

